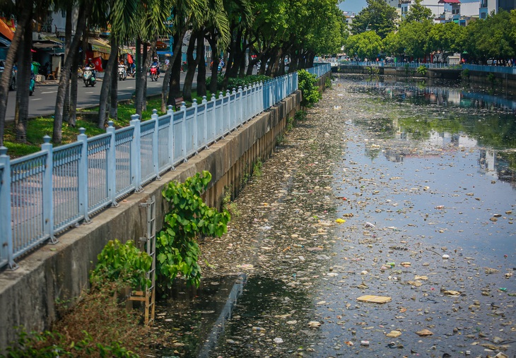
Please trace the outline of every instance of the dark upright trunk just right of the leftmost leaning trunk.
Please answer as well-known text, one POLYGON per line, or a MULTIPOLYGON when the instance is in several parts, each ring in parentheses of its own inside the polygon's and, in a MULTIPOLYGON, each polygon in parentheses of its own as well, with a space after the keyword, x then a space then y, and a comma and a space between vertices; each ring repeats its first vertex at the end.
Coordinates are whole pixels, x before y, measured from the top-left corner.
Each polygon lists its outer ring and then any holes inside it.
POLYGON ((16 128, 16 141, 18 143, 27 142, 27 121, 29 115, 29 84, 30 84, 30 64, 32 54, 30 49, 33 47, 33 28, 32 23, 28 23, 24 28, 23 39, 20 45, 18 56, 18 90, 16 91, 16 114, 14 125, 16 128))

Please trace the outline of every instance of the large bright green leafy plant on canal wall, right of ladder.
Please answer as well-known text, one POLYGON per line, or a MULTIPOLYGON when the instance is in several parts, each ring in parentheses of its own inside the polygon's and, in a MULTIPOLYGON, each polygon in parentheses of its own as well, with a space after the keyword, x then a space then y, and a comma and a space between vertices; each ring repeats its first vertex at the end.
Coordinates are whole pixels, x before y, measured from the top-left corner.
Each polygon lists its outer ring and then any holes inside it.
POLYGON ((206 170, 187 178, 184 183, 170 181, 163 190, 163 197, 171 205, 165 215, 165 225, 156 239, 156 271, 158 286, 172 287, 177 275, 187 280, 187 285, 199 287, 199 244, 201 236, 221 237, 228 231, 230 213, 219 213, 210 208, 201 198, 206 191, 211 174, 206 170))

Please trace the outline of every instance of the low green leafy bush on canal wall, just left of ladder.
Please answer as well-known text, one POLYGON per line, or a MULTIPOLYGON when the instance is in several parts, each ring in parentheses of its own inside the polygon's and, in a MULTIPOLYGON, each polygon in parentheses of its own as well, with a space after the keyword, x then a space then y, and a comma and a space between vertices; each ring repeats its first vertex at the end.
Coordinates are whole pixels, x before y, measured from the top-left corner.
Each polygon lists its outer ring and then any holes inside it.
POLYGON ((98 254, 98 263, 90 274, 93 286, 104 286, 115 283, 116 287, 132 287, 145 290, 151 285, 146 273, 151 268, 152 258, 140 251, 129 240, 125 244, 110 240, 98 254))

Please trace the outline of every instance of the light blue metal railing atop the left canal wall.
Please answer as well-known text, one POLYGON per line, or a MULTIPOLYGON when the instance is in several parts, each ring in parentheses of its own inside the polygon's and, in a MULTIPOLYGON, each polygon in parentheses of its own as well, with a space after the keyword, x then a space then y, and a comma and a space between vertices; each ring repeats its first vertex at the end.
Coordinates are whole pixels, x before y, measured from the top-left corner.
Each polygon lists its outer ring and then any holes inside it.
MULTIPOLYGON (((318 66, 321 76, 329 66, 318 66)), ((45 136, 40 152, 10 160, 0 148, 0 268, 56 234, 88 222, 90 216, 163 172, 207 148, 298 89, 298 73, 220 93, 211 99, 168 107, 158 116, 53 148, 45 136)))

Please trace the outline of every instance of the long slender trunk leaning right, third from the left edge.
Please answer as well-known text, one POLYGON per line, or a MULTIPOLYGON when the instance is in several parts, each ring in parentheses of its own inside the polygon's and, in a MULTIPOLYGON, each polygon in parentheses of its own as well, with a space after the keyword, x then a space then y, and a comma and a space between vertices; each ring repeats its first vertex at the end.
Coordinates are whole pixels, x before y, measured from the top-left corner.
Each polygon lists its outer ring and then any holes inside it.
POLYGON ((52 132, 52 141, 54 143, 61 143, 62 140, 62 126, 63 126, 63 106, 64 94, 66 91, 66 84, 70 79, 71 63, 78 51, 78 45, 81 42, 81 36, 86 28, 86 18, 90 15, 91 6, 89 1, 84 1, 79 7, 77 28, 74 35, 74 40, 71 42, 69 56, 64 61, 62 76, 59 79, 59 87, 57 88, 56 107, 54 114, 54 131, 52 132))

